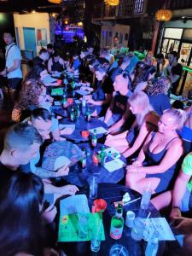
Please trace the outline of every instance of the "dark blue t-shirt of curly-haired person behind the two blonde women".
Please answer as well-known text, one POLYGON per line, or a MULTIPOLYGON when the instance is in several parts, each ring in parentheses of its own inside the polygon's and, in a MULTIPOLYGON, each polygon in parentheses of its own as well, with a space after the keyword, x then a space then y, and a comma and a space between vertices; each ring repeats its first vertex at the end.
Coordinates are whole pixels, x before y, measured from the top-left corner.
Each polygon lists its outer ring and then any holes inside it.
POLYGON ((165 94, 148 95, 148 99, 154 111, 159 115, 161 115, 164 110, 171 108, 169 97, 165 94))

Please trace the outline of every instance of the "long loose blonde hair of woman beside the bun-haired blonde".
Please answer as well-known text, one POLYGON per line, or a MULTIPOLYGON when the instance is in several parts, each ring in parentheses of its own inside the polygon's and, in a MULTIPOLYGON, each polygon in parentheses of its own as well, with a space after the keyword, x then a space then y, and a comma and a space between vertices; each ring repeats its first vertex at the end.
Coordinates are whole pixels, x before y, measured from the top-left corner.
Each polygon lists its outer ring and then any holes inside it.
POLYGON ((154 108, 152 108, 152 106, 150 105, 147 94, 143 91, 134 92, 130 96, 128 102, 140 106, 143 109, 141 113, 136 114, 138 126, 141 126, 143 124, 143 119, 149 112, 154 111, 154 108))

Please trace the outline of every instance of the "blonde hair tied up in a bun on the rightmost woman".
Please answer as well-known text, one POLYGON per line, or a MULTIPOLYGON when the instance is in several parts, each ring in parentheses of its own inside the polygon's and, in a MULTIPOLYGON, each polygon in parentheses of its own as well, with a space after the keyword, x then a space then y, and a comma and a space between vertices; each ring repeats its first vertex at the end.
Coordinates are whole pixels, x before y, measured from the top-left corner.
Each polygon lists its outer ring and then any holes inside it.
POLYGON ((187 119, 187 114, 182 109, 170 108, 164 111, 163 114, 169 114, 174 120, 174 124, 177 125, 177 129, 182 129, 185 120, 187 119))

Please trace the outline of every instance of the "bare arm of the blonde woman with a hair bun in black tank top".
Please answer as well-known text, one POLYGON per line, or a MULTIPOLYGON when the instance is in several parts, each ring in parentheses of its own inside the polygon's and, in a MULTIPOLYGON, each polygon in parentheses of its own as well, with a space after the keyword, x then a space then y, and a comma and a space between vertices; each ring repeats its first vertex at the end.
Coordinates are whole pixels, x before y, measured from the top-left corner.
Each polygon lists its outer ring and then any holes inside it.
POLYGON ((166 170, 168 170, 175 163, 177 163, 177 160, 179 160, 182 154, 183 154, 182 141, 177 140, 172 143, 172 146, 170 148, 167 149, 166 155, 164 156, 163 160, 161 160, 160 165, 138 167, 138 171, 148 173, 148 174, 166 172, 166 170))

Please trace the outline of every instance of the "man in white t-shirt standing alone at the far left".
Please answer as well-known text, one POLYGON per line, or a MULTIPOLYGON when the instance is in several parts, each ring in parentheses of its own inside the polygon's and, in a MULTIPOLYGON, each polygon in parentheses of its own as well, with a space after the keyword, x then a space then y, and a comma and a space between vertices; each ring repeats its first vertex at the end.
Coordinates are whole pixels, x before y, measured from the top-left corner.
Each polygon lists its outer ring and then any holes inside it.
POLYGON ((14 42, 15 38, 12 32, 3 32, 3 40, 7 45, 5 51, 6 67, 3 69, 0 75, 7 76, 9 88, 14 91, 16 90, 15 93, 18 93, 18 90, 20 90, 20 84, 22 82, 20 49, 14 42))

